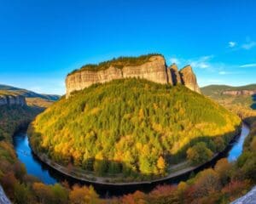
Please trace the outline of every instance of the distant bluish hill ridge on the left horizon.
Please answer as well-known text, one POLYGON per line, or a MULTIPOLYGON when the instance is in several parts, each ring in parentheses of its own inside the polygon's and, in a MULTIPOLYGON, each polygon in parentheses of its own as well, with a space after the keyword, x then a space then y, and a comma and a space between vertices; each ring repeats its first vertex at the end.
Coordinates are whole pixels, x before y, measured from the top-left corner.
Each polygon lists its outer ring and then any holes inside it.
POLYGON ((56 94, 38 94, 29 90, 26 90, 24 88, 15 88, 12 86, 8 86, 8 85, 3 85, 0 84, 0 90, 3 91, 9 91, 9 93, 12 94, 20 94, 25 96, 26 98, 40 98, 40 99, 47 99, 47 100, 57 100, 60 99, 60 95, 56 95, 56 94))

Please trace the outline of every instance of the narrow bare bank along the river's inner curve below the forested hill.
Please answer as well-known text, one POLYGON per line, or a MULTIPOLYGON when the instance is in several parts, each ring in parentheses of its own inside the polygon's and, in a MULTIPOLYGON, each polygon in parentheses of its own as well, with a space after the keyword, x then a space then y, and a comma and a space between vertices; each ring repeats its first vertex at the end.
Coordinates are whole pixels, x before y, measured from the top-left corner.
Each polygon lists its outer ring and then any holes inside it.
MULTIPOLYGON (((248 128, 247 125, 244 123, 242 125, 242 128, 248 128)), ((143 184, 160 184, 161 182, 166 182, 170 179, 176 179, 179 177, 182 177, 183 175, 189 175, 190 173, 196 173, 206 167, 211 167, 212 163, 218 161, 218 159, 224 157, 224 155, 231 149, 232 145, 234 145, 234 142, 236 142, 236 139, 239 138, 239 135, 236 135, 233 139, 230 140, 230 143, 226 146, 224 151, 219 152, 218 154, 215 154, 210 161, 207 161, 204 164, 201 164, 196 167, 185 167, 183 169, 178 169, 175 172, 169 173, 166 177, 163 178, 155 178, 150 181, 134 181, 134 182, 111 182, 112 178, 102 178, 102 177, 96 177, 94 175, 91 175, 90 173, 81 173, 77 171, 71 171, 67 167, 63 167, 60 164, 56 163, 55 161, 49 160, 49 158, 46 155, 39 155, 34 150, 32 150, 33 154, 38 157, 38 159, 42 162, 44 162, 47 166, 51 167, 52 169, 55 169, 55 171, 58 171, 67 177, 74 178, 80 181, 88 182, 91 184, 103 184, 103 185, 111 185, 111 186, 133 186, 133 185, 143 185, 143 184)), ((32 147, 31 147, 32 148, 32 147)), ((179 166, 179 164, 177 164, 179 166)))

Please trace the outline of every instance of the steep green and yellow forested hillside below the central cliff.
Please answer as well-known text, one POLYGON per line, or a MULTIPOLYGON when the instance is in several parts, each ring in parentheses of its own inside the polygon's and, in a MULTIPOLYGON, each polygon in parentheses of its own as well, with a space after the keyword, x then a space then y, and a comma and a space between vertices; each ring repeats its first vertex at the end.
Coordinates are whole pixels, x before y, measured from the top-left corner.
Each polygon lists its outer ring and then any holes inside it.
POLYGON ((240 122, 183 86, 125 79, 59 100, 32 122, 30 140, 34 150, 64 165, 148 177, 167 173, 194 147, 191 158, 198 142, 209 156, 223 150, 240 122))

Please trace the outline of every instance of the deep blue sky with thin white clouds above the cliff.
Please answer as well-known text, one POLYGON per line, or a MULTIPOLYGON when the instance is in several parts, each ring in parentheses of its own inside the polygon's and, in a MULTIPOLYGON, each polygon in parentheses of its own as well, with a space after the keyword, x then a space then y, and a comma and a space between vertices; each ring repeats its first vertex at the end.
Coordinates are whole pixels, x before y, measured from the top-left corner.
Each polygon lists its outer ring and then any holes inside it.
POLYGON ((68 72, 160 53, 200 86, 256 82, 256 1, 0 0, 0 83, 64 94, 68 72))

